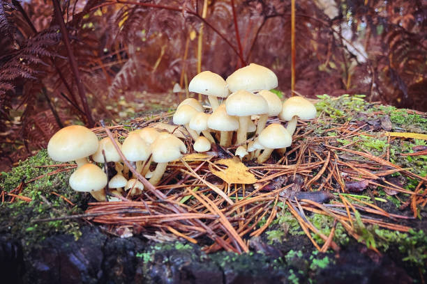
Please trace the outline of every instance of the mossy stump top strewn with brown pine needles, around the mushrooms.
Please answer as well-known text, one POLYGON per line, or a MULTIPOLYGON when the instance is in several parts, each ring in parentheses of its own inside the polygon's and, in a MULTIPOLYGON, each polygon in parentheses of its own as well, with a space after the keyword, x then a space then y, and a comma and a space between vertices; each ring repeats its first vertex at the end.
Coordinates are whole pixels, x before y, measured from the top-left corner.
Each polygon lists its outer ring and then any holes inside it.
MULTIPOLYGON (((0 176, 0 274, 6 283, 425 283, 427 114, 347 95, 316 107, 285 157, 239 163, 235 147, 218 145, 189 153, 157 188, 165 199, 144 191, 96 203, 68 186, 73 164, 41 150, 0 176)), ((109 129, 119 141, 147 125, 185 134, 171 113, 109 129)))

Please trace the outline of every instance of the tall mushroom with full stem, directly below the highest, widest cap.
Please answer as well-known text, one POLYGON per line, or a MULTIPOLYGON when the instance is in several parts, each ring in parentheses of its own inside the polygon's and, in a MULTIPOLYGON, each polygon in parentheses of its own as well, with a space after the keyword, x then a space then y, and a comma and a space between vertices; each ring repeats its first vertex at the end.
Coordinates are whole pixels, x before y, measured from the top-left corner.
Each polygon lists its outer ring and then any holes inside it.
POLYGON ((239 129, 237 129, 237 144, 244 143, 248 133, 250 116, 264 114, 269 111, 264 97, 255 95, 247 90, 238 90, 227 97, 225 109, 230 116, 239 117, 239 129))

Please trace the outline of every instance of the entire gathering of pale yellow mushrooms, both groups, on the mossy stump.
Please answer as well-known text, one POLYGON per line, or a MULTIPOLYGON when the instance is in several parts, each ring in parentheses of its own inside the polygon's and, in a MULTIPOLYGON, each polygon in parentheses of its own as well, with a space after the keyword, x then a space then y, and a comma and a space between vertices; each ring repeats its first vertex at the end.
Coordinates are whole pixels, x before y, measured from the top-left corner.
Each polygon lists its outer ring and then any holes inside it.
MULTIPOLYGON (((212 112, 188 98, 179 104, 173 122, 186 128, 197 152, 209 151, 211 144, 218 142, 224 147, 233 145, 230 148, 236 148, 235 155, 241 159, 257 159, 263 163, 274 149, 284 152, 292 144, 298 118, 307 120, 316 115, 313 104, 303 97, 282 102, 270 91, 277 86, 276 74, 254 63, 240 68, 226 80, 210 71, 201 72, 190 81, 189 90, 207 95, 212 112), (287 127, 280 123, 267 125, 271 116, 287 121, 287 127)), ((120 143, 108 137, 98 141, 90 129, 73 125, 52 136, 47 152, 55 161, 76 162, 77 170, 70 176, 70 187, 76 191, 87 191, 97 200, 105 200, 108 185, 115 200, 121 200, 125 195, 139 195, 144 189, 126 165, 156 185, 168 163, 179 159, 187 148, 177 136, 152 127, 129 132, 120 143), (123 155, 119 155, 116 147, 123 155), (90 156, 93 162, 89 161, 90 156), (129 163, 124 163, 121 157, 129 163), (107 166, 103 171, 96 164, 109 162, 114 163, 117 172, 110 181, 105 173, 107 166), (150 171, 152 163, 156 166, 150 171)))

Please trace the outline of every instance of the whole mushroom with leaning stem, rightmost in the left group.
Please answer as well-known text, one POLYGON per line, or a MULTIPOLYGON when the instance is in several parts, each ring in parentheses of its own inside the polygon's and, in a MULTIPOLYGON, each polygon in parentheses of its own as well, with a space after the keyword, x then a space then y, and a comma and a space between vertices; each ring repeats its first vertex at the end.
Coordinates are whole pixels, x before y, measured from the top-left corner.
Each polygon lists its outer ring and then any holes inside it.
POLYGON ((156 141, 151 144, 153 161, 157 163, 149 182, 156 185, 160 182, 163 173, 166 171, 167 163, 179 159, 182 154, 187 152, 186 145, 179 138, 172 134, 160 134, 156 141))

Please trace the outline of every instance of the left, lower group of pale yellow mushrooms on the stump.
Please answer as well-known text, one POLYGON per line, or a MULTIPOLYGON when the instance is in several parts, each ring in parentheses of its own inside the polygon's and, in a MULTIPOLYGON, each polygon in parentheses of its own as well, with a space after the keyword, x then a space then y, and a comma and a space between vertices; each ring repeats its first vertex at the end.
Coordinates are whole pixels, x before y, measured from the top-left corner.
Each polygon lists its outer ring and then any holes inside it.
MULTIPOLYGON (((123 144, 114 140, 130 165, 153 185, 160 182, 165 173, 167 163, 179 159, 186 152, 186 145, 172 134, 158 132, 155 128, 145 127, 129 132, 123 144), (149 171, 151 163, 157 163, 153 172, 149 171)), ((54 161, 75 161, 77 170, 70 175, 69 184, 75 191, 89 192, 93 198, 105 201, 107 198, 105 187, 108 184, 110 200, 121 200, 124 191, 126 196, 142 194, 144 185, 131 176, 129 168, 123 163, 114 143, 108 137, 98 141, 96 134, 80 125, 72 125, 60 129, 54 134, 47 145, 47 152, 54 161), (89 162, 89 158, 93 163, 89 162), (117 172, 110 181, 98 164, 114 162, 117 172), (123 191, 124 189, 124 191, 123 191)), ((210 142, 208 141, 209 148, 210 142)), ((206 145, 204 145, 206 148, 206 145)))

